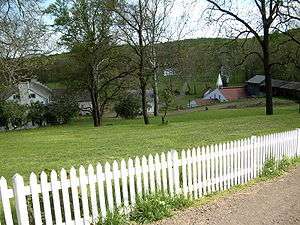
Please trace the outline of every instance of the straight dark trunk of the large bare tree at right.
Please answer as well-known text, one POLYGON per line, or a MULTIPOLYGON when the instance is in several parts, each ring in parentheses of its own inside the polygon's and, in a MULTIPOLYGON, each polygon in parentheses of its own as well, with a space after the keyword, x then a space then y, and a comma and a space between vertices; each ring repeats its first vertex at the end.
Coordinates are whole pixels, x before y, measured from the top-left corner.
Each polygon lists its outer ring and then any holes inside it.
POLYGON ((272 94, 272 75, 270 67, 270 55, 269 55, 269 32, 268 29, 264 30, 263 39, 263 63, 265 73, 265 91, 266 91, 266 115, 273 115, 273 94, 272 94))

